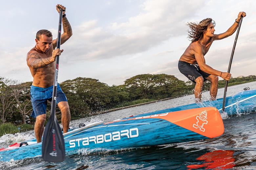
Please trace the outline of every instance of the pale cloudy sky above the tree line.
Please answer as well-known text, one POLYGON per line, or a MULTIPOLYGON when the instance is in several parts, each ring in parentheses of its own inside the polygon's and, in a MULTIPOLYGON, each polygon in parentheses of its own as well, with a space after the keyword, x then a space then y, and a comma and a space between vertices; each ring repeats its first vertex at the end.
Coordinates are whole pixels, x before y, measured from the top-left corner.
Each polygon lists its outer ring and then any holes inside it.
MULTIPOLYGON (((35 34, 48 29, 57 38, 56 5, 66 7, 73 36, 61 45, 58 82, 76 77, 98 79, 109 86, 140 74, 174 75, 190 41, 187 22, 216 22, 225 32, 240 11, 246 12, 237 40, 232 77, 256 75, 255 0, 12 0, 1 2, 0 77, 32 81, 26 63, 35 34)), ((63 29, 62 29, 63 31, 63 29)), ((214 41, 206 64, 227 72, 236 32, 214 41)), ((222 78, 219 78, 221 80, 222 78)))

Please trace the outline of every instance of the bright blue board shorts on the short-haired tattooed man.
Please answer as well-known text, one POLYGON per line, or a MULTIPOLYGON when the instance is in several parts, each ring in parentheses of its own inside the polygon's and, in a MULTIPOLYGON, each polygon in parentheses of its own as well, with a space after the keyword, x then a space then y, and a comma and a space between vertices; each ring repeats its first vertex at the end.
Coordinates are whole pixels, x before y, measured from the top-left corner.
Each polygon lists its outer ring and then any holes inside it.
MULTIPOLYGON (((53 86, 42 88, 31 86, 30 90, 31 103, 33 111, 31 113, 32 117, 39 116, 41 114, 46 114, 47 100, 52 101, 53 98, 53 86)), ((57 95, 56 95, 56 106, 58 102, 68 101, 65 93, 62 92, 59 84, 57 85, 57 95)))

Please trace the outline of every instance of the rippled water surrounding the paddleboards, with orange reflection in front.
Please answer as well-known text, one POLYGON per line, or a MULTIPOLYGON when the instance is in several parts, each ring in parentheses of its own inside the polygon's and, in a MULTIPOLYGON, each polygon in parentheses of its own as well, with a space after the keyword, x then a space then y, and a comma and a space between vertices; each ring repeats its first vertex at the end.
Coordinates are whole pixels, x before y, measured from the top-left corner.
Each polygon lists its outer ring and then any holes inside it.
MULTIPOLYGON (((228 87, 227 96, 233 95, 243 88, 256 89, 256 82, 228 87)), ((224 88, 219 89, 217 98, 223 97, 224 88)), ((203 100, 209 98, 209 93, 203 93, 203 100)), ((172 108, 194 103, 193 95, 176 99, 150 103, 133 108, 117 110, 98 116, 74 120, 71 127, 79 123, 112 121, 131 115, 156 110, 172 108)), ((224 118, 224 134, 220 137, 154 147, 144 147, 125 150, 95 150, 81 149, 77 154, 66 156, 65 161, 53 163, 43 161, 41 157, 0 162, 0 169, 14 170, 92 170, 92 169, 243 169, 256 170, 256 113, 241 114, 224 118)), ((0 145, 8 146, 15 142, 34 138, 33 131, 4 135, 0 137, 0 145)))

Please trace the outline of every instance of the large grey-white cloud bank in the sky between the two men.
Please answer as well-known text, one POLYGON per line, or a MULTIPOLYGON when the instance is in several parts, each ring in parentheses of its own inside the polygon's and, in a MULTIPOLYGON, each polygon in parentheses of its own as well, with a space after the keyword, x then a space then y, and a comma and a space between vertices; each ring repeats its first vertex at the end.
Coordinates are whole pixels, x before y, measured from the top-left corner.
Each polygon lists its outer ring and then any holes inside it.
MULTIPOLYGON (((74 29, 74 35, 67 43, 68 55, 74 61, 110 59, 133 55, 159 45, 173 36, 186 34, 184 18, 195 15, 204 1, 187 2, 188 10, 180 1, 145 1, 137 16, 127 22, 112 23, 101 27, 96 20, 81 23, 74 29)), ((185 1, 184 1, 185 3, 185 1)))

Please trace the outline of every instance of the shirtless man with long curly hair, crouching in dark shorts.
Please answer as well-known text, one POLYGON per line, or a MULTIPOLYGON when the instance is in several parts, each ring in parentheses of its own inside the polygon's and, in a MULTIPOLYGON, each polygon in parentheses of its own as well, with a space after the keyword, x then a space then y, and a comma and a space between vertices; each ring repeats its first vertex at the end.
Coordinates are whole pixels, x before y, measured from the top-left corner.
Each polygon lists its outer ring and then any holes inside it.
POLYGON ((206 18, 199 24, 187 23, 190 27, 190 31, 188 31, 188 38, 191 39, 191 43, 182 54, 178 68, 184 76, 196 83, 194 92, 197 102, 201 101, 204 81, 209 80, 211 82, 210 96, 211 100, 215 100, 218 92, 218 76, 225 80, 230 79, 230 73, 215 70, 205 64, 204 55, 208 52, 213 41, 227 38, 236 31, 239 20, 242 16, 245 17, 246 13, 239 12, 234 24, 228 28, 226 32, 221 34, 214 34, 215 22, 211 18, 206 18))

